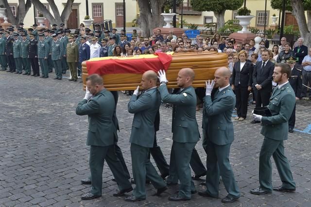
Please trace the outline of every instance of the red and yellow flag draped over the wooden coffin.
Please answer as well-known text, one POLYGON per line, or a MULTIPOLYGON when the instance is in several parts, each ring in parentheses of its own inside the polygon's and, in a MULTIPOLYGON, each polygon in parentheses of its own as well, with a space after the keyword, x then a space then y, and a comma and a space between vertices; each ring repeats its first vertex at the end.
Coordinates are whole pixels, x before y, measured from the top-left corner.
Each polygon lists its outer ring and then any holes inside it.
POLYGON ((142 74, 147 70, 167 70, 172 62, 173 52, 156 52, 155 54, 135 55, 133 57, 98 57, 86 61, 88 75, 97 73, 120 74, 133 73, 142 74))

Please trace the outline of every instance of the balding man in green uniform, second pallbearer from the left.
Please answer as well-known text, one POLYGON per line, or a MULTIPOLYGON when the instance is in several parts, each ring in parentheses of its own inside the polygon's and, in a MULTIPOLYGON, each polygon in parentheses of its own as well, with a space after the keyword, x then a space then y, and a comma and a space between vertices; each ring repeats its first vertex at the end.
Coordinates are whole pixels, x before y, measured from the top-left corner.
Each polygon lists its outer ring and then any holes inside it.
POLYGON ((157 195, 167 190, 166 183, 156 172, 148 158, 150 148, 154 146, 155 116, 161 104, 161 96, 156 89, 155 71, 146 71, 141 78, 144 92, 138 98, 138 90, 134 91, 128 103, 128 112, 134 114, 130 137, 132 170, 136 183, 133 194, 125 201, 135 202, 146 199, 146 177, 157 189, 157 195))

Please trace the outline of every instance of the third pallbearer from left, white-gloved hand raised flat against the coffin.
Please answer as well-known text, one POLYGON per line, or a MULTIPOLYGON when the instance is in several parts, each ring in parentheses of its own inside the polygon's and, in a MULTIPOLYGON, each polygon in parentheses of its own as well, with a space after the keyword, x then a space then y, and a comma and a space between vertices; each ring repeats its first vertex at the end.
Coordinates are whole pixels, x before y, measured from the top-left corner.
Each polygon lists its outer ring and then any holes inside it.
POLYGON ((167 90, 165 71, 159 71, 160 86, 158 90, 164 103, 173 106, 173 145, 171 150, 170 172, 168 184, 180 181, 178 194, 169 197, 171 201, 185 201, 191 199, 191 192, 195 193, 189 167, 192 150, 200 139, 198 123, 195 117, 196 95, 192 82, 194 71, 190 68, 181 69, 177 76, 177 94, 169 94, 167 90))

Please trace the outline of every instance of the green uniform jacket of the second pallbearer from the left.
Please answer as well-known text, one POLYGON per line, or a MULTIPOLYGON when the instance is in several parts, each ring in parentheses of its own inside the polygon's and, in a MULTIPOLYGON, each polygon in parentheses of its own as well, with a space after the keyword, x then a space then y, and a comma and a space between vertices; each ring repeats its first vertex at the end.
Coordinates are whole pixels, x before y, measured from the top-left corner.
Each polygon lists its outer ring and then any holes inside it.
POLYGON ((133 95, 127 105, 134 114, 130 142, 142 147, 153 147, 155 139, 155 115, 160 108, 161 96, 155 88, 146 90, 137 98, 133 95))

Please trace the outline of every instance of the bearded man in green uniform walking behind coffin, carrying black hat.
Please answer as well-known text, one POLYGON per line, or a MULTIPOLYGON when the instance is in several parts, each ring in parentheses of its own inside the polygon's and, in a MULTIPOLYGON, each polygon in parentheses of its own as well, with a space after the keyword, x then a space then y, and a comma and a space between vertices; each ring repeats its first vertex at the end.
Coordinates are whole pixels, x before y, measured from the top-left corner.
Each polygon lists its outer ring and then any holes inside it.
POLYGON ((271 193, 272 190, 294 192, 296 184, 293 179, 287 157, 284 155, 284 140, 288 137, 288 121, 292 115, 296 99, 288 79, 291 77, 291 67, 286 63, 275 65, 273 81, 278 84, 269 99, 267 106, 271 117, 253 114, 256 121, 261 121, 261 134, 264 136, 259 154, 259 184, 250 192, 256 195, 271 193), (277 172, 282 186, 272 188, 272 166, 270 158, 276 163, 277 172))

